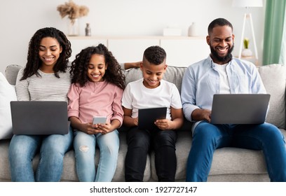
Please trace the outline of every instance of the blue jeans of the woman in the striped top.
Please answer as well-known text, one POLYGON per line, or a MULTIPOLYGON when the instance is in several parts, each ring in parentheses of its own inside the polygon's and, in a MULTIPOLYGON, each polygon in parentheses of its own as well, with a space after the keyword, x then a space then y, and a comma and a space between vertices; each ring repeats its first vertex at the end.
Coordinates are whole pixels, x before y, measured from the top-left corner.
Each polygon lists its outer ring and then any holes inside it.
POLYGON ((12 181, 60 181, 64 153, 71 148, 72 139, 71 128, 64 135, 14 135, 9 146, 12 181), (39 165, 34 174, 32 160, 38 152, 39 165))

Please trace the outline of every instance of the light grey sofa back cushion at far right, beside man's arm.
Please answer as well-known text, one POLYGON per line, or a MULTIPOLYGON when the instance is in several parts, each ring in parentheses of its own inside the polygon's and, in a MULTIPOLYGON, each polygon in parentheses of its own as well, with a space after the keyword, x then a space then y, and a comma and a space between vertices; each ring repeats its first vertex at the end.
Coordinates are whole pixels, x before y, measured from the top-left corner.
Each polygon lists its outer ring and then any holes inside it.
POLYGON ((270 64, 259 66, 266 92, 271 94, 266 122, 285 129, 285 74, 286 66, 270 64))

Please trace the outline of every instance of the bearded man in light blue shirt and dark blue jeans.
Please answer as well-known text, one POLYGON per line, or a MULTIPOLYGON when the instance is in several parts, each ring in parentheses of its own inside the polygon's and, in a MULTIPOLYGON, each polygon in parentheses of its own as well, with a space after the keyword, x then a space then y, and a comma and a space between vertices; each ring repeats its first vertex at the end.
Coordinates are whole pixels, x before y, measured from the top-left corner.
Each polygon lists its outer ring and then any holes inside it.
POLYGON ((210 56, 192 64, 182 81, 185 117, 195 122, 186 181, 207 181, 215 149, 226 146, 262 150, 271 181, 286 181, 286 148, 277 127, 260 125, 213 125, 213 94, 266 93, 259 73, 250 62, 233 58, 233 26, 224 18, 208 27, 210 56))

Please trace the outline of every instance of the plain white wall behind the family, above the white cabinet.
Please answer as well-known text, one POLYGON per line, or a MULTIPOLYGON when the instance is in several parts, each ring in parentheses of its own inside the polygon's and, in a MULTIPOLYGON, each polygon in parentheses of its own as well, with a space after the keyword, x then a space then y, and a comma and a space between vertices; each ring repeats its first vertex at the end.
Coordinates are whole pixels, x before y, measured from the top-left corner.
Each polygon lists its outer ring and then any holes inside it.
MULTIPOLYGON (((27 47, 37 29, 55 27, 67 33, 67 18, 60 18, 57 6, 68 0, 9 0, 0 2, 0 71, 8 64, 25 66, 27 47)), ((200 34, 207 34, 207 25, 215 18, 226 18, 234 27, 238 55, 245 8, 233 8, 231 0, 74 0, 88 6, 90 13, 81 18, 81 35, 86 22, 93 36, 161 36, 163 28, 182 29, 183 36, 192 22, 200 34)), ((265 6, 265 3, 264 3, 265 6)), ((265 8, 250 8, 257 36, 261 64, 265 8)), ((250 28, 246 36, 251 38, 250 28)))

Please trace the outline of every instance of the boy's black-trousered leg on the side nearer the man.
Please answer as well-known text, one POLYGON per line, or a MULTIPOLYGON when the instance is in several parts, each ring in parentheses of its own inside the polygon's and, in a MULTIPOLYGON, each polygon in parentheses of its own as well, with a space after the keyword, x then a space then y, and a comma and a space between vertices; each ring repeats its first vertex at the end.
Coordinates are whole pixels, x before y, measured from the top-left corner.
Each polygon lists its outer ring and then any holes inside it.
POLYGON ((160 130, 154 136, 155 166, 158 181, 175 181, 177 168, 176 141, 177 133, 174 130, 160 130))

